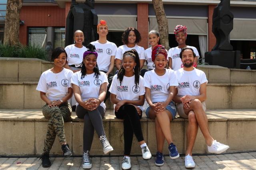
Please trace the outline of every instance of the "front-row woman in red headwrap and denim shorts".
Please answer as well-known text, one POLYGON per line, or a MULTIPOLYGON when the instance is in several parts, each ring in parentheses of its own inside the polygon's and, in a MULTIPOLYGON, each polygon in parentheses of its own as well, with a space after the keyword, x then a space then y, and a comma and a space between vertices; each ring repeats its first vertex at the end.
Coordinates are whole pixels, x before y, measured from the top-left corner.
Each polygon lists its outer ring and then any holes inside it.
POLYGON ((164 165, 163 147, 164 139, 168 142, 170 158, 176 159, 180 155, 173 144, 170 131, 170 121, 176 116, 176 108, 172 98, 176 95, 178 81, 171 69, 166 69, 167 52, 164 46, 157 45, 152 50, 152 61, 155 69, 144 75, 145 96, 149 106, 146 108, 146 116, 155 120, 156 126, 156 166, 164 165))

